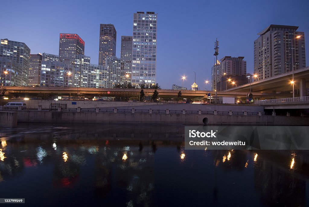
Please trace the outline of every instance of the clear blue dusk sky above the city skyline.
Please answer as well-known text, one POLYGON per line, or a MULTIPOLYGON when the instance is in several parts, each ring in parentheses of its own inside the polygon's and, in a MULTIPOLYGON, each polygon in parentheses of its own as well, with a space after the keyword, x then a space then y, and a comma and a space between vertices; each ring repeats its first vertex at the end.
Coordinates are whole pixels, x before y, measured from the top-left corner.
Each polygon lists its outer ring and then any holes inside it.
POLYGON ((196 72, 200 90, 210 90, 214 41, 218 59, 244 56, 253 74, 253 41, 270 24, 299 26, 305 32, 309 65, 309 1, 1 1, 0 38, 24 42, 36 53, 59 53, 59 33, 76 33, 85 41, 92 64, 99 59, 99 24, 114 24, 116 56, 122 35, 133 33, 133 13, 154 11, 157 17, 157 76, 162 88, 191 87, 196 72))

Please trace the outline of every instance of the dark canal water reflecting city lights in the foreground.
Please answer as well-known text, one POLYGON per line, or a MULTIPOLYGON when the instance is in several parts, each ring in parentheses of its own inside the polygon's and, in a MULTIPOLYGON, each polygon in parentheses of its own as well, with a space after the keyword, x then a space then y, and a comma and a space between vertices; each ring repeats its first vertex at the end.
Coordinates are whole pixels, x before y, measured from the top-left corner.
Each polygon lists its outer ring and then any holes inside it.
POLYGON ((309 206, 308 150, 184 150, 184 125, 19 124, 0 140, 0 198, 20 206, 309 206))

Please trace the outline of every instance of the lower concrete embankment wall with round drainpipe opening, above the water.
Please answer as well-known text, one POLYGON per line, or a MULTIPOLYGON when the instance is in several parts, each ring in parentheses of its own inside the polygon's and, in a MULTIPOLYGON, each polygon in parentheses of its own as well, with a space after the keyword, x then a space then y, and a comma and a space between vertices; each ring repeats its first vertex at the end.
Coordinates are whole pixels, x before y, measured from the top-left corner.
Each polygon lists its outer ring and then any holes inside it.
POLYGON ((19 111, 19 122, 309 125, 308 117, 19 111), (292 119, 291 119, 292 118, 292 119))

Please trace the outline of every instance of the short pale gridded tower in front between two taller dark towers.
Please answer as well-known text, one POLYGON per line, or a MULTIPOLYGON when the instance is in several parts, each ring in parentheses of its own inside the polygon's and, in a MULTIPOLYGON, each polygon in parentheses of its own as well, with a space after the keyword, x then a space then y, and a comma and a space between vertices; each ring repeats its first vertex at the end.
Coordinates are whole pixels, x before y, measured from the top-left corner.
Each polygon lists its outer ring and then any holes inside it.
POLYGON ((120 58, 116 56, 107 56, 105 70, 107 71, 108 88, 113 88, 115 84, 120 82, 120 58))

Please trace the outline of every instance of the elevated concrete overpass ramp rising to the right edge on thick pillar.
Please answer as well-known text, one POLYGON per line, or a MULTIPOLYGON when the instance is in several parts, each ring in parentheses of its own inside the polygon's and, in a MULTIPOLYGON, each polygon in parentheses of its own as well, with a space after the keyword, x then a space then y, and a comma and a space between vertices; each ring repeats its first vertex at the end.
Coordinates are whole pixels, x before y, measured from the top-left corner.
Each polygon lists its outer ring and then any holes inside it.
MULTIPOLYGON (((293 72, 290 71, 271 78, 254 81, 251 84, 248 83, 245 85, 233 87, 226 91, 242 91, 249 93, 251 88, 251 92, 274 93, 276 94, 276 98, 293 97, 293 86, 290 83, 293 79, 292 77, 293 72), (286 94, 283 92, 286 92, 286 94)), ((309 86, 309 67, 294 70, 294 81, 295 97, 306 96, 306 86, 309 86)))

